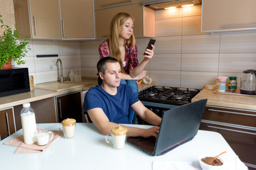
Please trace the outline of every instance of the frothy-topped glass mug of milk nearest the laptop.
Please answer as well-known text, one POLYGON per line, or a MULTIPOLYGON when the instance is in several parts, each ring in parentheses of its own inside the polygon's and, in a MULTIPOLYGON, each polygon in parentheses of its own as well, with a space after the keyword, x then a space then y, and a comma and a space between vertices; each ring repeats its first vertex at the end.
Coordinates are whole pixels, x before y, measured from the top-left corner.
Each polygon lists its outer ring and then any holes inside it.
POLYGON ((111 134, 105 136, 107 143, 112 142, 114 149, 122 149, 127 139, 127 128, 119 125, 119 127, 112 128, 111 134))

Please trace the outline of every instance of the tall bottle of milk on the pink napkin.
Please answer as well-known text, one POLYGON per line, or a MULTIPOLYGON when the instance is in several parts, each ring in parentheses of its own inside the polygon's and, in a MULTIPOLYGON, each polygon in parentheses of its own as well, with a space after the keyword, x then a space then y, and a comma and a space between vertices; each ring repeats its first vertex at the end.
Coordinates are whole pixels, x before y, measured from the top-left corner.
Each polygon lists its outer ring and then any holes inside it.
POLYGON ((24 143, 33 144, 36 142, 36 116, 30 103, 23 103, 23 109, 21 110, 21 125, 24 143))

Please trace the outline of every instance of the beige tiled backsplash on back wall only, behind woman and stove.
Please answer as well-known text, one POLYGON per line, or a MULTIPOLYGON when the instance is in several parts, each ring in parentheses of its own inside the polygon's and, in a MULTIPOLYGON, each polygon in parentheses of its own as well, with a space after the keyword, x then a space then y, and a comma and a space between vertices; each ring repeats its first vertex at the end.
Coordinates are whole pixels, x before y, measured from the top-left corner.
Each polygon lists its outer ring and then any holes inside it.
MULTIPOLYGON (((139 61, 148 40, 137 39, 139 61)), ((80 44, 82 76, 96 77, 99 44, 80 44)), ((201 5, 156 11, 155 47, 146 70, 158 85, 202 89, 218 76, 236 76, 240 86, 240 73, 256 69, 256 33, 201 33, 201 5)))

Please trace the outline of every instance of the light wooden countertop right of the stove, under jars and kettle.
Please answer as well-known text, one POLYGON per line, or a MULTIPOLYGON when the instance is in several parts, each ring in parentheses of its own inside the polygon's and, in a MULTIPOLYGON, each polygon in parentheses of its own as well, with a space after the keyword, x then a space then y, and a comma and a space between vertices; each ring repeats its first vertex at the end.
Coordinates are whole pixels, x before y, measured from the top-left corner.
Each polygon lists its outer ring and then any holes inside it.
POLYGON ((192 102, 203 98, 208 98, 206 103, 208 106, 223 106, 256 111, 256 96, 215 94, 213 91, 203 89, 199 94, 192 98, 192 102))

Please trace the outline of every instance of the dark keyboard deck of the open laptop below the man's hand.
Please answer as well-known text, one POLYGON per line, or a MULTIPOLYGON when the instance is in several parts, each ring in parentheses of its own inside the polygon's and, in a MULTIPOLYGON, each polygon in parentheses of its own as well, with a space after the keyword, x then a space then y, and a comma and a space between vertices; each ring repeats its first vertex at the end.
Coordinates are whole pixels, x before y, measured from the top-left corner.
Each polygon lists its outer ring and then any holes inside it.
POLYGON ((127 142, 144 149, 146 152, 153 153, 156 145, 156 137, 127 137, 127 142))

